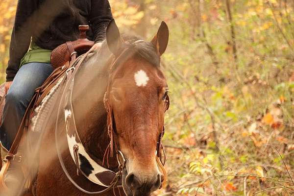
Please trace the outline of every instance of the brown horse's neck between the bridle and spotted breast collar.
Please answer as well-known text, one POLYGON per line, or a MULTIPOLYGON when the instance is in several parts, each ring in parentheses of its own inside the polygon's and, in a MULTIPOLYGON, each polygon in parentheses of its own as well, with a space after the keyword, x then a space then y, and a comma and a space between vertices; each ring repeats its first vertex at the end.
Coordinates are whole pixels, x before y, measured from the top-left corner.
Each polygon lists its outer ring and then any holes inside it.
MULTIPOLYGON (((107 49, 108 50, 108 49, 107 49)), ((98 162, 109 144, 103 98, 108 82, 110 52, 100 49, 81 65, 74 78, 73 111, 78 134, 98 162)))

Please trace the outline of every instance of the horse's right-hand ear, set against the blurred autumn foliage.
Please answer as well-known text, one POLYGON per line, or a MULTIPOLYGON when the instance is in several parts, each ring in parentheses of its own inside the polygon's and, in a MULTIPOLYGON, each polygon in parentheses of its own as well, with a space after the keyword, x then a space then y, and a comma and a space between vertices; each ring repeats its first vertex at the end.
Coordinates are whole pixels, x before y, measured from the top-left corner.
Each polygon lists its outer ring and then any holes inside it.
POLYGON ((161 56, 167 49, 169 42, 169 27, 165 22, 161 22, 161 25, 157 31, 157 34, 152 39, 151 43, 155 46, 159 56, 161 56))

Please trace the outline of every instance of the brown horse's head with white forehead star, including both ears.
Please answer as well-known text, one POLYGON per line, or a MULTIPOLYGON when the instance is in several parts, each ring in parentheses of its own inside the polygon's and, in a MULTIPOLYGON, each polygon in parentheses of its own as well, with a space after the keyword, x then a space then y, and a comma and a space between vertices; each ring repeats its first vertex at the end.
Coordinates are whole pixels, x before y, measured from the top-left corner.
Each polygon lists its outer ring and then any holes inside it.
POLYGON ((160 70, 168 38, 164 22, 151 42, 124 39, 114 21, 106 29, 114 60, 104 101, 111 150, 125 159, 122 181, 127 196, 150 196, 164 180, 157 155, 169 106, 168 85, 160 70))

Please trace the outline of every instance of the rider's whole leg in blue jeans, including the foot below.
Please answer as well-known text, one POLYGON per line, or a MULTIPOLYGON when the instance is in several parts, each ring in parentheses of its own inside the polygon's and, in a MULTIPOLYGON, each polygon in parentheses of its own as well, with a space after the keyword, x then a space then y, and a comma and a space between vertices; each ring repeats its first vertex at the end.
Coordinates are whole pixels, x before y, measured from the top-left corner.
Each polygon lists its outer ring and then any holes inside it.
MULTIPOLYGON (((2 153, 5 153, 5 151, 7 153, 7 150, 3 149, 3 147, 10 149, 35 89, 43 84, 52 71, 53 68, 49 63, 27 63, 16 74, 6 95, 2 124, 0 126, 2 153)), ((22 153, 21 148, 24 147, 20 146, 18 148, 20 153, 22 153)), ((10 162, 3 179, 12 193, 21 189, 25 179, 21 164, 16 161, 10 162)))

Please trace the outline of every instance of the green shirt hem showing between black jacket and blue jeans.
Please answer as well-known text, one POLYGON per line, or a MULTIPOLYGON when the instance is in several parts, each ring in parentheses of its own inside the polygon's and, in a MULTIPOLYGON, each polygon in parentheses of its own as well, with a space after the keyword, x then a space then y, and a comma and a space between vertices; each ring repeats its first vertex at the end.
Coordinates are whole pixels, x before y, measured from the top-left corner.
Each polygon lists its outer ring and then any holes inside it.
POLYGON ((26 63, 38 62, 38 63, 51 63, 50 49, 42 49, 38 47, 35 43, 31 42, 31 45, 28 51, 25 53, 25 56, 21 59, 20 67, 26 63))

